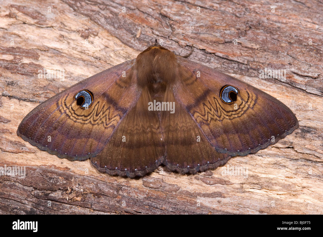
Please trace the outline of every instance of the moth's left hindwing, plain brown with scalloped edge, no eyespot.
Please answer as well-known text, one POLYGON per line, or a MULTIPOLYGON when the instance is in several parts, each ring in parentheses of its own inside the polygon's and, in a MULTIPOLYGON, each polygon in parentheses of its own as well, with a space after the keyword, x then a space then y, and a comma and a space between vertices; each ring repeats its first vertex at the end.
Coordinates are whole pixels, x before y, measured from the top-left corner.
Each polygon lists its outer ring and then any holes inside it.
POLYGON ((100 172, 119 176, 143 176, 164 162, 165 144, 158 114, 148 110, 153 99, 142 89, 135 107, 122 120, 108 144, 91 164, 100 172))

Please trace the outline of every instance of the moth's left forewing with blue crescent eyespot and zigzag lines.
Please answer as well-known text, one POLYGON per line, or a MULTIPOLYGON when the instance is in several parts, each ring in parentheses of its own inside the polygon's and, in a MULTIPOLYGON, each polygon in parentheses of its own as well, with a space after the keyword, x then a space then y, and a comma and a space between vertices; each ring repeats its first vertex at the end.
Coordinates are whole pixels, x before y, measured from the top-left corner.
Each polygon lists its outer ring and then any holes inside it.
POLYGON ((140 96, 133 63, 130 60, 104 70, 41 103, 26 115, 17 135, 61 158, 95 156, 140 96), (84 89, 93 94, 88 109, 74 99, 84 89))

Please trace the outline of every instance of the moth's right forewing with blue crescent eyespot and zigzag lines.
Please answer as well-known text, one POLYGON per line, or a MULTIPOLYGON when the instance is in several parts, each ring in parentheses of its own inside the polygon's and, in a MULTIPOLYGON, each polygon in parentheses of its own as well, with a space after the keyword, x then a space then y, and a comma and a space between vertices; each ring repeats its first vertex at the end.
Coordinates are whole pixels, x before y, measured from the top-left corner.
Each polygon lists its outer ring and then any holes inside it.
POLYGON ((181 66, 180 80, 173 86, 175 98, 216 150, 245 156, 276 143, 298 127, 294 113, 267 93, 187 59, 177 57, 177 62, 181 66), (232 104, 220 98, 226 85, 239 90, 232 104))

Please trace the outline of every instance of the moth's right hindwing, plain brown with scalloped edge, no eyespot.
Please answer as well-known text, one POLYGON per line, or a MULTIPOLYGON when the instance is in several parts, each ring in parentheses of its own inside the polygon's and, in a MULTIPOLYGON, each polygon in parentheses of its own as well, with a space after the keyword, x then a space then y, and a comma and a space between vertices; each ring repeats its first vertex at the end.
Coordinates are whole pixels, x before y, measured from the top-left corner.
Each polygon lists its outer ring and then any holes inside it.
POLYGON ((175 102, 174 113, 161 113, 167 149, 166 167, 180 173, 196 173, 222 166, 230 159, 228 154, 217 152, 207 141, 184 106, 176 102, 171 87, 166 90, 163 101, 175 102))

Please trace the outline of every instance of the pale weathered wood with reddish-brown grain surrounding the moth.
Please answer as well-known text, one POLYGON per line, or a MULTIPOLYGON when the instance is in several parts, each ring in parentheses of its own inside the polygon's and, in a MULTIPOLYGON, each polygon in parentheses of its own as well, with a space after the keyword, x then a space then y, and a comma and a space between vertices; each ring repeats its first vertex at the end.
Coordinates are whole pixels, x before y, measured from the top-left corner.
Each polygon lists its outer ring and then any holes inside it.
POLYGON ((0 167, 26 166, 26 178, 0 177, 0 213, 323 213, 323 4, 286 1, 272 12, 269 2, 203 2, 0 0, 0 167), (161 166, 134 179, 16 135, 39 102, 135 58, 155 38, 181 55, 194 45, 189 59, 273 95, 299 129, 215 170, 181 175, 161 166), (265 67, 286 69, 286 80, 259 79, 265 67), (43 68, 64 69, 65 80, 38 78, 43 68), (247 175, 227 174, 232 167, 247 175))

